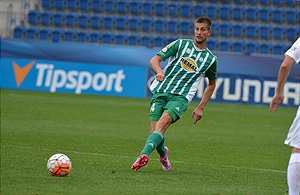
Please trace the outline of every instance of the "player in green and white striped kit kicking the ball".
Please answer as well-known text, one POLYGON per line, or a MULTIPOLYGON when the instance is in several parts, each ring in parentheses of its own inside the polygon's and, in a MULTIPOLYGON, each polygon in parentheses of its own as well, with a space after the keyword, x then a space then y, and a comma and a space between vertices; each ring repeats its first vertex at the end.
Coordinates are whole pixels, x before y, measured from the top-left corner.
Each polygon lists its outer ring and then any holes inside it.
POLYGON ((203 116, 203 110, 216 86, 217 58, 206 47, 212 22, 207 17, 194 21, 194 40, 178 39, 164 47, 150 60, 156 79, 150 86, 150 136, 132 169, 139 170, 148 163, 150 153, 157 150, 162 168, 171 169, 169 149, 164 146, 168 127, 183 115, 193 99, 203 77, 209 82, 198 106, 192 112, 194 124, 203 116), (160 63, 169 59, 164 69, 160 63))

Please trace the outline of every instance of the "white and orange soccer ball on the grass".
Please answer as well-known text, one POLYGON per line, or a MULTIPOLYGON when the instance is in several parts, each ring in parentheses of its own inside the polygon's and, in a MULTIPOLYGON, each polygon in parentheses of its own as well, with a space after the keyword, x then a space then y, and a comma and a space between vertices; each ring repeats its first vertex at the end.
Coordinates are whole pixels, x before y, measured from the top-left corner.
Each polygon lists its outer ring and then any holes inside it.
POLYGON ((70 173, 72 163, 66 155, 54 154, 47 162, 47 169, 53 176, 65 177, 70 173))

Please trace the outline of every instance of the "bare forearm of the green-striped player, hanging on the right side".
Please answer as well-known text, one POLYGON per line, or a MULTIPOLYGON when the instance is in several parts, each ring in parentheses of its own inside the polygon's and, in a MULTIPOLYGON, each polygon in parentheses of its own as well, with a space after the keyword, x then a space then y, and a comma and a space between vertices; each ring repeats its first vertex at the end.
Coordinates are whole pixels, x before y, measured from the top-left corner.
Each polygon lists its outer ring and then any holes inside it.
POLYGON ((211 98, 215 88, 216 88, 216 80, 209 80, 209 83, 204 90, 203 97, 200 103, 192 113, 192 118, 194 118, 194 124, 196 124, 197 121, 202 118, 203 110, 206 104, 208 103, 209 99, 211 98))

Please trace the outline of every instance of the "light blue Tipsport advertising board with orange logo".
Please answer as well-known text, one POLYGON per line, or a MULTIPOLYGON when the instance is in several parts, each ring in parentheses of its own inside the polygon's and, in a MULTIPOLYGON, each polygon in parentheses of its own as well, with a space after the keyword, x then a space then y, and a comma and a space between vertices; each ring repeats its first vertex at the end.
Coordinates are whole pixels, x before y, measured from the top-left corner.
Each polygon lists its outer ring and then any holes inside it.
POLYGON ((1 59, 1 88, 143 98, 146 78, 146 67, 1 59))

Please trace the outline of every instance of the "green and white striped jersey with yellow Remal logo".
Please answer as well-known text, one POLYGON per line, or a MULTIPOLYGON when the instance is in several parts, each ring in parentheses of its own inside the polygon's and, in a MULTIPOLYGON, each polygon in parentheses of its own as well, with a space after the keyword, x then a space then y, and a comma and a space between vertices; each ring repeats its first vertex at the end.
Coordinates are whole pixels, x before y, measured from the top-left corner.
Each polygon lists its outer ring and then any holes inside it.
POLYGON ((150 86, 153 93, 182 95, 190 102, 196 94, 199 82, 204 76, 215 80, 217 76, 217 57, 209 49, 200 50, 190 39, 178 39, 164 47, 157 55, 164 61, 165 79, 156 79, 150 86))

